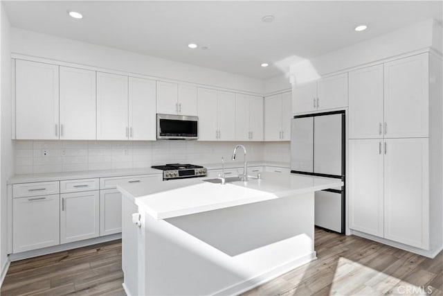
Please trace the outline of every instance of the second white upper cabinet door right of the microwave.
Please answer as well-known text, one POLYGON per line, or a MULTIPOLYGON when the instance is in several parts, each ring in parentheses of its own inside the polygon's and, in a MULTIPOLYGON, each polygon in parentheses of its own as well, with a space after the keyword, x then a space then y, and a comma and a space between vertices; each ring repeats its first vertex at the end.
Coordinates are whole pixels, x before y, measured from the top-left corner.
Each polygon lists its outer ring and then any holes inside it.
POLYGON ((235 140, 235 94, 233 92, 217 92, 217 110, 219 139, 235 140))

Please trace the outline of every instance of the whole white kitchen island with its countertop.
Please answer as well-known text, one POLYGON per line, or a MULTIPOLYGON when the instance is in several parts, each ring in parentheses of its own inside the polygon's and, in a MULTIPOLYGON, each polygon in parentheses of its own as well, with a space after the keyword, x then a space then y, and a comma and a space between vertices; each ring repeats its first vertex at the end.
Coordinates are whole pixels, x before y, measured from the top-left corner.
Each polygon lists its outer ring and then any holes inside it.
POLYGON ((125 291, 235 295, 314 260, 314 192, 342 185, 278 173, 121 184, 125 291))

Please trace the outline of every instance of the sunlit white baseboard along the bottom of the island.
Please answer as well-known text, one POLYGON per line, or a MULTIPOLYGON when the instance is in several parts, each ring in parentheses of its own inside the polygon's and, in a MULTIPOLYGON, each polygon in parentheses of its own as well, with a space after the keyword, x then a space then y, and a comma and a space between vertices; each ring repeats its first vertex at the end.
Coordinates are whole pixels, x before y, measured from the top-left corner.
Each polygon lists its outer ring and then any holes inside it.
POLYGON ((224 288, 223 290, 219 290, 213 295, 239 295, 241 293, 246 292, 247 290, 251 290, 257 286, 260 286, 267 281, 271 281, 276 277, 280 277, 286 272, 289 272, 295 268, 300 267, 301 265, 305 265, 311 261, 317 259, 316 252, 311 252, 305 256, 298 257, 292 261, 284 263, 276 268, 268 270, 261 275, 257 275, 256 277, 252 277, 250 279, 246 279, 245 281, 241 281, 238 284, 230 286, 228 288, 224 288))

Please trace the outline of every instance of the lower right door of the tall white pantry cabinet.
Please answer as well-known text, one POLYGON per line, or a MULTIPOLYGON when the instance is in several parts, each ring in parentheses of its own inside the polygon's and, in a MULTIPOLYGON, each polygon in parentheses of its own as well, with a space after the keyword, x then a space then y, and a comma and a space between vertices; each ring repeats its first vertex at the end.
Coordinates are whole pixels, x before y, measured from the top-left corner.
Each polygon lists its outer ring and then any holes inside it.
POLYGON ((385 143, 385 238, 428 250, 428 139, 385 143))

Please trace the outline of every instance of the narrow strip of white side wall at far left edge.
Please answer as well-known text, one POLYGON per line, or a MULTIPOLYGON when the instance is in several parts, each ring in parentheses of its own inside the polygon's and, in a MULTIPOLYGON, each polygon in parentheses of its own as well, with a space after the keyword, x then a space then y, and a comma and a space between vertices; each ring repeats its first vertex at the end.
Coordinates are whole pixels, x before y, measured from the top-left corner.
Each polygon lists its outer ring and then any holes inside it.
POLYGON ((0 4, 1 10, 1 49, 0 49, 0 268, 7 263, 7 188, 6 180, 14 173, 13 143, 11 140, 11 57, 10 57, 10 24, 8 15, 0 4))

